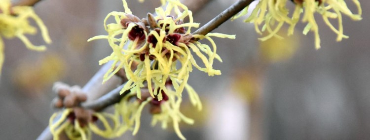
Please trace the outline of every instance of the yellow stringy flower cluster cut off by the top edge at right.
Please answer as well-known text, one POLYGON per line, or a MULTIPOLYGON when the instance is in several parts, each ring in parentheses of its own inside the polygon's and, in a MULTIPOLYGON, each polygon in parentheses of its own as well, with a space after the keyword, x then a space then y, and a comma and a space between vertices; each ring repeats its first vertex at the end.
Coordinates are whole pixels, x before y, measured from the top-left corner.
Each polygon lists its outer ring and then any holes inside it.
MULTIPOLYGON (((296 5, 291 17, 289 16, 289 9, 286 7, 288 1, 289 0, 259 0, 256 8, 253 9, 251 15, 245 20, 245 22, 253 22, 259 34, 262 34, 262 31, 267 31, 269 33, 267 36, 259 38, 259 40, 264 41, 273 36, 282 38, 277 35, 277 32, 284 23, 290 25, 288 35, 293 34, 294 28, 300 19, 300 13, 303 13, 302 22, 307 23, 303 30, 303 34, 313 31, 315 34, 315 47, 316 49, 320 49, 319 28, 314 18, 314 13, 319 13, 329 28, 337 34, 336 41, 348 38, 348 36, 343 34, 342 14, 350 17, 352 20, 357 21, 362 19, 362 9, 358 0, 352 0, 358 8, 358 14, 353 14, 344 0, 291 0, 296 5), (338 27, 335 28, 329 19, 337 19, 338 27), (263 27, 259 29, 259 25, 261 24, 263 24, 263 27)), ((239 15, 233 17, 233 19, 246 15, 248 9, 249 6, 239 15)))

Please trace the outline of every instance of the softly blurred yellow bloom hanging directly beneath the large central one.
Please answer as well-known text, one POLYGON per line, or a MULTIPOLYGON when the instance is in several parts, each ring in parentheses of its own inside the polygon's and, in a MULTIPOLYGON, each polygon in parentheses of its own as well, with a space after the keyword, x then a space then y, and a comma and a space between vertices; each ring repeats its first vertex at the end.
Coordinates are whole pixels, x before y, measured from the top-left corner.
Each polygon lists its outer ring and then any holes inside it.
MULTIPOLYGON (((186 124, 193 124, 194 120, 186 117, 180 112, 180 106, 182 103, 181 95, 177 94, 176 91, 172 90, 171 81, 166 83, 167 92, 164 90, 158 91, 155 97, 151 97, 148 90, 142 91, 142 98, 137 98, 135 92, 131 92, 126 95, 119 104, 115 106, 115 111, 119 112, 123 120, 123 125, 118 128, 118 134, 121 135, 124 132, 132 131, 133 135, 136 135, 140 128, 141 113, 145 106, 149 106, 149 112, 153 115, 151 125, 154 126, 160 122, 163 129, 168 128, 168 124, 172 123, 178 137, 185 140, 184 135, 180 131, 179 123, 185 122, 186 124), (162 97, 162 100, 158 99, 158 96, 162 97)), ((185 90, 189 95, 191 104, 197 108, 198 111, 202 110, 202 103, 198 94, 195 90, 185 85, 185 90)))

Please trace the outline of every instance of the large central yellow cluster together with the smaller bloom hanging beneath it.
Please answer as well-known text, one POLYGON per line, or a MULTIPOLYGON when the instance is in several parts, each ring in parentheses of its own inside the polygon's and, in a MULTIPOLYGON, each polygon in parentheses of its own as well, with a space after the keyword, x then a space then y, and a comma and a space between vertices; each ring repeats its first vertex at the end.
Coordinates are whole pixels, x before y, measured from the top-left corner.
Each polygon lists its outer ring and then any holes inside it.
POLYGON ((209 76, 220 75, 221 71, 212 66, 215 59, 222 59, 217 55, 216 44, 211 37, 234 39, 235 35, 192 34, 191 28, 198 28, 199 24, 193 22, 192 12, 179 0, 166 0, 165 9, 158 7, 155 9, 156 16, 148 14, 143 19, 133 15, 126 0, 122 1, 125 11, 111 12, 104 20, 108 35, 88 40, 107 39, 113 50, 110 56, 99 61, 100 64, 113 61, 103 82, 121 69, 124 69, 128 79, 120 93, 127 90, 131 93, 116 105, 116 112, 125 124, 117 133, 133 130, 136 134, 141 111, 144 106, 150 105, 153 125, 160 121, 162 128, 166 128, 167 123, 172 122, 177 135, 185 139, 179 122, 192 124, 193 120, 179 111, 184 89, 192 105, 198 110, 202 108, 198 95, 187 84, 189 73, 195 67, 209 76), (107 25, 110 17, 114 17, 115 23, 107 25), (185 23, 185 20, 188 22, 185 23), (208 40, 211 46, 197 41, 203 39, 208 40), (193 55, 198 56, 203 64, 198 65, 193 55))

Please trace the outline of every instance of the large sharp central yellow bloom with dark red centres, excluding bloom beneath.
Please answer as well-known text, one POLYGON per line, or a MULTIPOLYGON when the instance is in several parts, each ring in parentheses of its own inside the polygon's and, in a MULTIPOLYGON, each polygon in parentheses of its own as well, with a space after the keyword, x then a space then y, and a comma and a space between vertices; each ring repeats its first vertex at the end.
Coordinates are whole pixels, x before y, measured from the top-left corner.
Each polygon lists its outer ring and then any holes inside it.
MULTIPOLYGON (((193 67, 208 73, 209 76, 221 74, 220 70, 212 66, 215 59, 222 59, 216 54, 216 44, 211 37, 235 36, 221 33, 191 34, 191 28, 199 27, 198 23, 193 22, 192 12, 179 0, 167 1, 166 9, 155 9, 157 16, 148 14, 146 19, 139 19, 132 14, 127 2, 123 0, 125 12, 111 12, 104 20, 108 35, 99 35, 88 40, 108 40, 113 52, 100 60, 100 64, 108 61, 113 61, 113 64, 106 73, 104 82, 121 68, 125 69, 128 82, 120 93, 131 90, 141 98, 141 88, 147 84, 150 96, 154 97, 158 93, 157 89, 168 92, 165 83, 170 79, 176 93, 180 95, 193 67), (171 13, 175 13, 175 16, 171 13), (106 25, 111 16, 116 23, 106 25), (188 23, 184 23, 185 18, 188 23), (210 41, 211 46, 194 41, 193 38, 206 39, 210 41), (198 65, 193 55, 200 57, 204 67, 198 65), (177 67, 178 63, 181 64, 180 67, 177 67), (135 70, 131 70, 133 64, 137 64, 135 70)), ((158 99, 162 100, 160 94, 158 99)))

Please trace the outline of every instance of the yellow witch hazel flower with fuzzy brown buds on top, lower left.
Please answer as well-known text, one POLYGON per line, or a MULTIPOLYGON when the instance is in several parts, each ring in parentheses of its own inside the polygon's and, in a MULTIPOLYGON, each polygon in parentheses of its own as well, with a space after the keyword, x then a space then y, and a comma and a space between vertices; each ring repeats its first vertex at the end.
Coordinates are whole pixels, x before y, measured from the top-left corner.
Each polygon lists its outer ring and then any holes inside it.
POLYGON ((116 138, 118 128, 122 126, 118 112, 94 112, 93 110, 79 107, 81 102, 87 100, 87 96, 79 86, 69 86, 64 83, 55 83, 53 90, 58 93, 54 100, 55 108, 65 108, 55 112, 49 119, 49 129, 53 140, 59 140, 62 133, 70 140, 91 140, 92 133, 103 138, 116 138), (99 121, 103 125, 98 126, 99 121))

